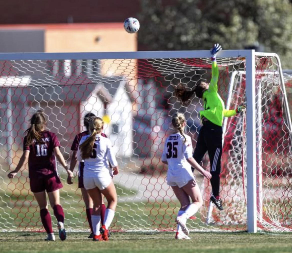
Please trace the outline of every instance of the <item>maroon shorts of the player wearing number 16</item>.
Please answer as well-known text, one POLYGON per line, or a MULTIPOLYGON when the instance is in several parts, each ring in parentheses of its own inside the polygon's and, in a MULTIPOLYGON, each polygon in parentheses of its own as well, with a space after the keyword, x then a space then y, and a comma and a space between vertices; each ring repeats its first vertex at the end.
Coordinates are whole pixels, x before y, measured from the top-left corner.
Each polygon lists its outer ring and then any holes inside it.
POLYGON ((32 192, 52 192, 63 187, 60 178, 56 175, 52 177, 30 178, 29 184, 32 192))

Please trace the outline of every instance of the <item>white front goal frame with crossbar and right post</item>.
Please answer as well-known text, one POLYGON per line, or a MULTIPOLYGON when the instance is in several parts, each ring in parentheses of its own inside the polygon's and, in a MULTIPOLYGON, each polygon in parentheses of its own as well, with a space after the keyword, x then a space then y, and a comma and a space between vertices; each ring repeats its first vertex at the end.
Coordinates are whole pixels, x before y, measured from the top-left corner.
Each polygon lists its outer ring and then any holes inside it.
MULTIPOLYGON (((281 81, 284 83, 279 56, 274 53, 256 53, 255 50, 222 50, 217 57, 244 57, 246 62, 246 145, 247 145, 247 231, 257 232, 256 187, 256 88, 255 57, 274 56, 278 60, 281 81)), ((79 59, 145 59, 145 58, 209 58, 209 50, 191 51, 137 51, 100 53, 0 53, 0 60, 79 60, 79 59)), ((285 102, 287 103, 284 87, 285 102)), ((290 114, 288 115, 291 127, 290 114)), ((291 128, 290 128, 291 129, 291 128)))

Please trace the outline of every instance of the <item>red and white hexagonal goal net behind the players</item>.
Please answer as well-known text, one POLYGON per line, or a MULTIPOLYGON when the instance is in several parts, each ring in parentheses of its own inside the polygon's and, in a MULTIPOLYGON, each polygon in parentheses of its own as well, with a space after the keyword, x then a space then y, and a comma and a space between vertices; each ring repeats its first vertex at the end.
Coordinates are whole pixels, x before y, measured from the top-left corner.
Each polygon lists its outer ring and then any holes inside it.
MULTIPOLYGON (((57 134, 68 164, 72 141, 85 130, 84 115, 92 112, 104 118, 104 132, 114 144, 120 166, 113 179, 118 206, 112 230, 174 230, 180 205, 166 184, 161 153, 172 131, 171 115, 178 111, 185 114, 186 133, 196 145, 203 101, 194 97, 182 106, 173 87, 181 83, 191 89, 210 80, 209 52, 197 52, 201 53, 164 52, 161 57, 159 52, 122 57, 118 53, 0 55, 4 59, 0 60, 0 231, 43 230, 27 165, 14 179, 7 177, 22 155, 29 119, 39 109, 46 114, 48 130, 57 134)), ((218 93, 227 109, 235 109, 246 102, 246 59, 233 55, 217 62, 218 93)), ((291 97, 291 79, 283 78, 277 55, 256 56, 255 75, 257 226, 292 231, 291 120, 283 83, 291 97)), ((247 229, 246 136, 246 113, 225 119, 220 182, 224 210, 210 206, 211 185, 195 172, 204 204, 188 221, 191 230, 247 229)), ((208 154, 202 165, 210 169, 208 154)), ((60 166, 58 173, 64 185, 60 202, 67 229, 88 230, 77 177, 68 185, 60 166)))

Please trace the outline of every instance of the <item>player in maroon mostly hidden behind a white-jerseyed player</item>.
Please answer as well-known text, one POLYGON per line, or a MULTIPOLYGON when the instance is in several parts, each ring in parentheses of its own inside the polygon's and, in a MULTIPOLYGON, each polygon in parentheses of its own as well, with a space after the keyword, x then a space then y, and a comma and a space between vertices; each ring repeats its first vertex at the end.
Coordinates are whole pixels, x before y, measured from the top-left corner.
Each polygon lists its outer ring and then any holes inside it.
MULTIPOLYGON (((91 118, 94 118, 94 117, 95 117, 95 115, 93 113, 88 113, 84 116, 84 126, 86 127, 86 131, 77 134, 74 138, 74 141, 73 141, 72 146, 71 146, 71 150, 73 152, 72 152, 72 159, 71 159, 71 163, 70 163, 70 171, 74 170, 75 165, 77 163, 77 151, 78 151, 79 142, 83 136, 89 134, 89 130, 88 130, 89 121, 91 120, 91 118)), ((104 133, 101 133, 101 135, 104 137, 107 137, 104 133)), ((91 222, 93 201, 92 201, 91 197, 89 196, 88 192, 86 191, 86 189, 84 188, 83 170, 84 170, 84 162, 82 161, 82 162, 79 162, 78 188, 80 188, 81 193, 82 193, 82 198, 84 200, 85 207, 86 207, 86 216, 87 216, 88 224, 89 224, 89 227, 91 230, 91 234, 88 236, 88 238, 93 238, 93 228, 92 228, 92 222, 91 222)), ((73 184, 72 178, 69 175, 67 178, 67 183, 73 184)), ((106 206, 105 206, 105 203, 103 202, 103 197, 102 197, 102 206, 101 206, 101 211, 100 211, 102 225, 104 224, 105 210, 106 210, 106 206)))

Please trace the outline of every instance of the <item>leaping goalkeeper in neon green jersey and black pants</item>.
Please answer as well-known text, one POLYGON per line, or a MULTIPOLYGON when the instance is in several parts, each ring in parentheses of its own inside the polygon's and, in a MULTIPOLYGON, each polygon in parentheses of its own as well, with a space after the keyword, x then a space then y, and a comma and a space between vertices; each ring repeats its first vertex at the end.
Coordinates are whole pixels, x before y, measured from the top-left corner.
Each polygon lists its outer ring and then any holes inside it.
POLYGON ((199 131, 193 157, 197 163, 200 163, 206 151, 208 151, 211 164, 210 172, 212 175, 210 182, 213 192, 210 201, 213 202, 219 210, 223 210, 222 200, 219 196, 223 117, 234 116, 245 109, 245 105, 241 104, 235 110, 225 110, 224 102, 217 93, 219 70, 216 62, 216 54, 221 49, 219 44, 215 44, 211 49, 212 77, 210 83, 200 82, 195 89, 191 91, 185 90, 185 87, 181 85, 175 88, 175 94, 183 104, 190 101, 194 93, 197 97, 203 98, 204 100, 204 110, 200 111, 203 126, 199 131))

